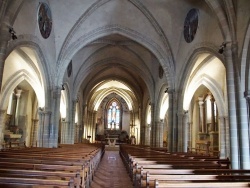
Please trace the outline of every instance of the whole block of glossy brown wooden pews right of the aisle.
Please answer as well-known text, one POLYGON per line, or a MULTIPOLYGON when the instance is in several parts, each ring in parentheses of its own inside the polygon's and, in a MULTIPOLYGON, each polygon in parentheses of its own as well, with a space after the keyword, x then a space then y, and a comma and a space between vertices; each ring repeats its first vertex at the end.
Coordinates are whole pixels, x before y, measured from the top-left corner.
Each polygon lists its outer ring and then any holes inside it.
POLYGON ((156 153, 149 149, 144 152, 143 149, 139 149, 138 151, 137 148, 133 150, 130 147, 127 151, 126 149, 122 148, 120 155, 124 163, 128 166, 127 168, 130 171, 133 169, 132 178, 141 181, 138 184, 134 182, 135 186, 140 186, 141 184, 145 187, 203 187, 208 181, 219 181, 218 183, 221 183, 218 185, 217 182, 213 182, 213 184, 210 184, 211 187, 223 187, 223 185, 229 185, 230 183, 233 183, 235 187, 249 186, 250 170, 230 170, 229 159, 185 153, 169 154, 165 152, 166 155, 164 155, 162 152, 156 153), (171 155, 175 156, 175 158, 172 158, 171 155), (211 168, 210 165, 207 165, 209 164, 207 162, 217 163, 218 166, 212 165, 211 168), (180 165, 177 165, 177 163, 180 165), (143 172, 144 169, 149 172, 143 172), (152 175, 149 176, 149 173, 152 173, 152 175), (147 178, 148 176, 150 178, 147 178), (186 182, 180 184, 183 180, 192 181, 192 185, 186 182), (206 183, 202 183, 202 181, 206 183), (228 183, 229 181, 231 182, 228 183))

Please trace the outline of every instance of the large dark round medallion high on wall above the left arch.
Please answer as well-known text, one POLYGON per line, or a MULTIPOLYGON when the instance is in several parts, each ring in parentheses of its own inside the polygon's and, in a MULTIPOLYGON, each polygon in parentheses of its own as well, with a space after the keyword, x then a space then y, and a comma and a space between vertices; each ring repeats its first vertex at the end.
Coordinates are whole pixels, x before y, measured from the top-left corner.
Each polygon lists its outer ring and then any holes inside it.
POLYGON ((46 3, 40 3, 38 9, 38 26, 43 38, 48 38, 52 29, 52 17, 50 8, 46 3))

